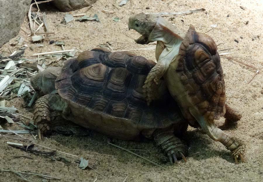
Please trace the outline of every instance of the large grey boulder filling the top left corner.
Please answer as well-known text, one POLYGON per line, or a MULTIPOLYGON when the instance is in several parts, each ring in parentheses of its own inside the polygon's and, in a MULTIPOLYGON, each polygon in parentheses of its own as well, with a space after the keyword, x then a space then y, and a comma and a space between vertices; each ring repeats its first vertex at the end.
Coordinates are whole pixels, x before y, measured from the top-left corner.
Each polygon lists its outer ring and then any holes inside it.
POLYGON ((0 47, 18 34, 30 3, 31 0, 0 0, 0 47))

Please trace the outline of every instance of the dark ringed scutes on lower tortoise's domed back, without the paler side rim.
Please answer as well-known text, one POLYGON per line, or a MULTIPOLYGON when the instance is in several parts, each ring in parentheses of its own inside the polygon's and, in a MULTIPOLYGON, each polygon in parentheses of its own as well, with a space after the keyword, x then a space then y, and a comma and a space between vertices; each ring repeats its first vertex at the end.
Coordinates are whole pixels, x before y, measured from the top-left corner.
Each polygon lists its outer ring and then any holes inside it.
POLYGON ((130 53, 85 51, 65 63, 56 87, 60 96, 70 105, 74 103, 74 107, 129 119, 144 128, 169 126, 179 122, 174 119, 178 117, 176 103, 168 97, 160 101, 161 105, 158 103, 161 109, 155 108, 154 103, 148 107, 143 94, 142 86, 154 65, 153 61, 130 53))

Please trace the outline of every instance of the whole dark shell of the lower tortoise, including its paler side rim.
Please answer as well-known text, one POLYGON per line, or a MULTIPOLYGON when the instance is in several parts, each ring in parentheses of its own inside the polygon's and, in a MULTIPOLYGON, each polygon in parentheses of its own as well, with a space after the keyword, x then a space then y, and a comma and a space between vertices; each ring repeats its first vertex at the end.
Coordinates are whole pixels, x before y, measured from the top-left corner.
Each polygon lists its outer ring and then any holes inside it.
POLYGON ((142 56, 96 48, 68 60, 55 85, 73 122, 111 137, 137 139, 183 122, 168 92, 147 106, 142 86, 154 65, 142 56))

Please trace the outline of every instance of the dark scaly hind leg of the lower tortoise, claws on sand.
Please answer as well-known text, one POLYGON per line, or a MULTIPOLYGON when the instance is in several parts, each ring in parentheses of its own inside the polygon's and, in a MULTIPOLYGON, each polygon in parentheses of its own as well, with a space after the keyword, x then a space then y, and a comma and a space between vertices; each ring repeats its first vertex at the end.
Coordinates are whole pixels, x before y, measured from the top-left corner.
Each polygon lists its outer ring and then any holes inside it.
POLYGON ((174 136, 173 130, 157 129, 153 133, 153 139, 156 145, 166 153, 171 163, 177 163, 178 158, 183 158, 186 162, 187 146, 181 139, 174 136))

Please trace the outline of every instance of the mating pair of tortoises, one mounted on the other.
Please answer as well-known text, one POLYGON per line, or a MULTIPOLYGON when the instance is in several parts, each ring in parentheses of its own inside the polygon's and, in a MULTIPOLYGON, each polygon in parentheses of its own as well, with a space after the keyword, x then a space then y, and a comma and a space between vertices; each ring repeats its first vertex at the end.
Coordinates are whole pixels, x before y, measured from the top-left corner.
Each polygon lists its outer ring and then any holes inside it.
POLYGON ((213 140, 243 161, 245 145, 214 124, 240 114, 225 104, 225 86, 217 47, 209 36, 190 26, 186 35, 162 17, 138 14, 129 29, 142 36, 137 43, 157 40, 156 59, 103 48, 84 51, 31 79, 41 95, 34 108, 39 137, 51 131, 51 112, 85 128, 125 140, 153 138, 170 162, 185 159, 179 138, 188 127, 200 126, 213 140), (179 105, 179 107, 178 107, 179 105), (180 112, 181 110, 181 112, 180 112), (182 114, 181 114, 182 113, 182 114))

